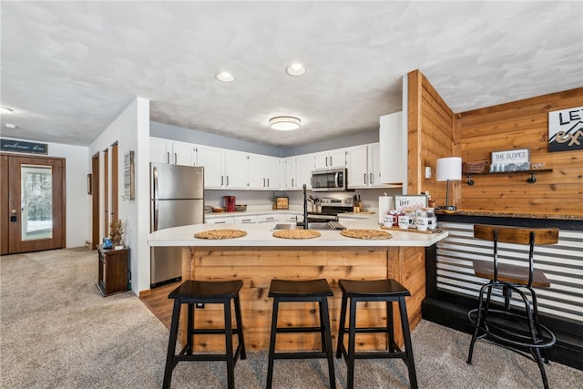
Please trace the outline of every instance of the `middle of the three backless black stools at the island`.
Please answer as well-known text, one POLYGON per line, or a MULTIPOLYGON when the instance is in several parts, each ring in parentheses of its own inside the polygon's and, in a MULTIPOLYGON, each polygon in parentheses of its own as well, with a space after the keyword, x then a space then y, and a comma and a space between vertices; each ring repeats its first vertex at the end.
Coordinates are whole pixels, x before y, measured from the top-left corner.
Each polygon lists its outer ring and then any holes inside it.
POLYGON ((269 363, 267 365, 268 389, 271 388, 271 381, 273 380, 273 361, 276 359, 327 358, 330 387, 336 387, 334 359, 332 355, 332 334, 330 332, 330 318, 328 316, 328 296, 332 295, 332 290, 326 280, 271 280, 269 297, 273 297, 273 312, 271 315, 270 355, 269 363), (318 302, 320 309, 320 326, 278 327, 277 313, 280 302, 318 302), (275 336, 277 333, 320 333, 322 338, 322 352, 275 353, 275 336))

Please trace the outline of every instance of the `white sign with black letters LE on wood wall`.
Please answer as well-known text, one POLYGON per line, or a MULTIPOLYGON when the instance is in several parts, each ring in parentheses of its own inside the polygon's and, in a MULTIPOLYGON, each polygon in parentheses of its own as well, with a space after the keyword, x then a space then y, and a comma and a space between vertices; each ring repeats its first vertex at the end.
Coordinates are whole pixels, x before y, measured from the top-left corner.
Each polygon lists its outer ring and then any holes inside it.
POLYGON ((583 149, 583 107, 548 113, 548 151, 583 149))

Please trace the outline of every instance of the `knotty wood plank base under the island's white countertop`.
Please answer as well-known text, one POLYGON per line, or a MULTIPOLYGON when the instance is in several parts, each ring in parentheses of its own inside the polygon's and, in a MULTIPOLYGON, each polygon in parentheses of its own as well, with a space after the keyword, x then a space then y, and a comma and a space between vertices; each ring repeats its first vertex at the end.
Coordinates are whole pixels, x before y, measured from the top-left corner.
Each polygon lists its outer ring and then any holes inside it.
MULTIPOLYGON (((411 330, 421 321, 421 302, 425 297, 424 247, 185 247, 182 254, 182 279, 220 281, 241 279, 240 292, 245 343, 249 350, 268 350, 270 342, 271 305, 268 297, 271 279, 326 279, 334 296, 329 300, 332 325, 332 344, 338 333, 342 292, 338 280, 378 280, 394 278, 409 292, 407 310, 411 330)), ((298 323, 317 325, 317 305, 289 303, 279 314, 280 325, 298 323)), ((184 309, 184 308, 183 308, 184 309)), ((195 310, 196 326, 200 328, 223 325, 222 307, 207 305, 195 310)), ((181 314, 183 323, 186 312, 181 314)), ((403 344, 401 323, 394 304, 394 332, 398 344, 403 344)), ((357 325, 383 325, 386 322, 384 303, 359 305, 357 325)), ((359 334, 359 349, 383 349, 384 334, 359 334)), ((184 339, 183 339, 184 341, 184 339)), ((220 336, 197 335, 196 350, 223 350, 220 336)), ((277 350, 312 350, 321 347, 317 334, 281 334, 277 350)))

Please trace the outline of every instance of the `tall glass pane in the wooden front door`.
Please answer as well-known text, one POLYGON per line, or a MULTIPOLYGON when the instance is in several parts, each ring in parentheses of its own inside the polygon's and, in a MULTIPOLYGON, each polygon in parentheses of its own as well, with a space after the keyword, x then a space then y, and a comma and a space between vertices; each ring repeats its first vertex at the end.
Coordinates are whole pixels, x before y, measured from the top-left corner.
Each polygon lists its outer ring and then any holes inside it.
POLYGON ((53 167, 21 165, 23 241, 53 238, 53 167))

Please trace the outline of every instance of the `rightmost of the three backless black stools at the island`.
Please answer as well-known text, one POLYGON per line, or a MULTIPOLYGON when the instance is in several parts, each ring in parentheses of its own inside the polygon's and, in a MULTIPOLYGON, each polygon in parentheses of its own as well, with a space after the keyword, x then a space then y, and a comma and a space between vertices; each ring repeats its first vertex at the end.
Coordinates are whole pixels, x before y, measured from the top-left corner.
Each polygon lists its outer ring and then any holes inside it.
POLYGON ((340 311, 338 329, 338 347, 336 358, 344 357, 347 364, 346 382, 349 389, 354 387, 354 360, 378 358, 402 358, 409 370, 409 384, 417 387, 417 375, 409 332, 407 306, 404 302, 411 293, 399 282, 393 279, 374 281, 340 280, 338 286, 343 291, 343 302, 340 311), (350 323, 345 328, 346 308, 350 299, 350 323), (356 302, 386 302, 386 327, 356 327, 356 302), (404 352, 394 342, 393 302, 399 303, 401 325, 403 327, 404 352), (344 347, 344 333, 348 332, 348 353, 344 347), (386 333, 388 335, 388 352, 355 352, 356 333, 386 333))

